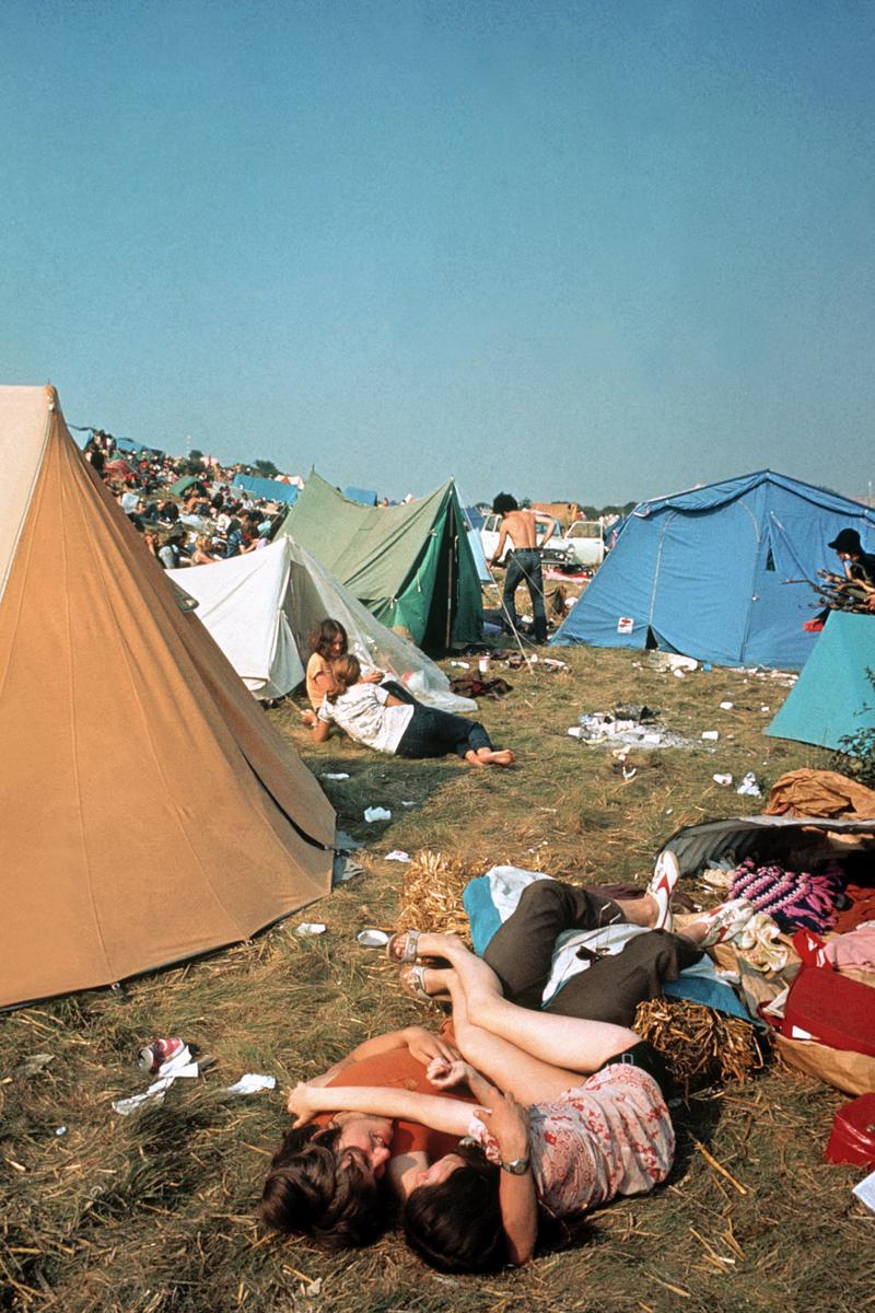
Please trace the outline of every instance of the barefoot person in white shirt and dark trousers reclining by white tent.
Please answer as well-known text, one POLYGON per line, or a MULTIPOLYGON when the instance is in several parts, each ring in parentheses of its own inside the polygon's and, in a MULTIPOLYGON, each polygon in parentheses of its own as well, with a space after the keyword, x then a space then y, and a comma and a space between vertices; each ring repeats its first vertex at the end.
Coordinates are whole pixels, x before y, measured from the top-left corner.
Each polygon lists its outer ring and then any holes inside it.
POLYGON ((325 693, 314 725, 314 738, 324 743, 332 723, 357 743, 395 756, 445 756, 455 752, 468 765, 510 765, 509 748, 493 748, 478 721, 466 721, 420 702, 403 702, 379 684, 362 679, 357 656, 346 654, 331 663, 333 688, 325 693))

